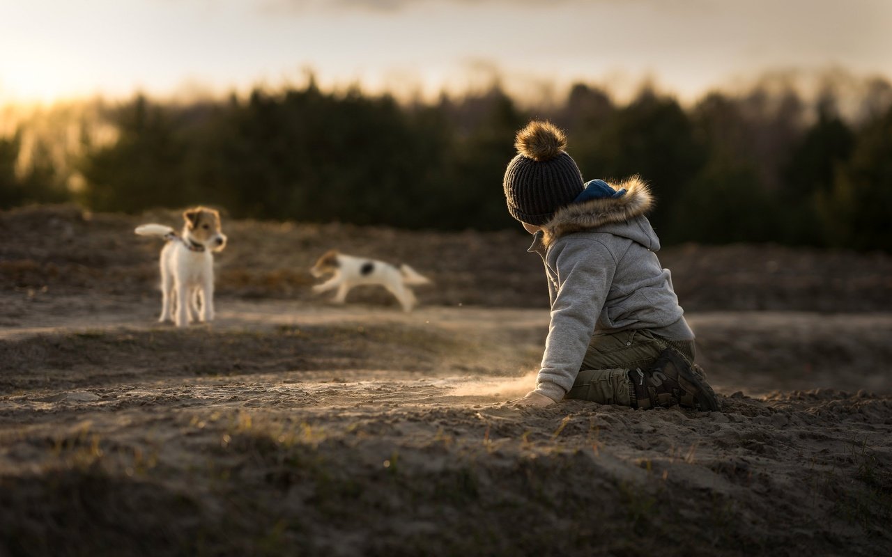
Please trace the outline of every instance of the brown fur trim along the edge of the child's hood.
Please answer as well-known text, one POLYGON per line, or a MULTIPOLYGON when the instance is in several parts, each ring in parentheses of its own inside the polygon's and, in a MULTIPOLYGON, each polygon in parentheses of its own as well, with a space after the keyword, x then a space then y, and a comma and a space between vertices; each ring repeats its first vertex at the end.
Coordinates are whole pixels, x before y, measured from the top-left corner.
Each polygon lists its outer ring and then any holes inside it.
POLYGON ((620 184, 610 184, 616 190, 625 188, 623 197, 597 199, 573 203, 558 209, 554 217, 542 225, 542 242, 550 246, 565 234, 583 232, 608 223, 620 223, 644 215, 654 205, 648 184, 640 176, 632 176, 620 184))

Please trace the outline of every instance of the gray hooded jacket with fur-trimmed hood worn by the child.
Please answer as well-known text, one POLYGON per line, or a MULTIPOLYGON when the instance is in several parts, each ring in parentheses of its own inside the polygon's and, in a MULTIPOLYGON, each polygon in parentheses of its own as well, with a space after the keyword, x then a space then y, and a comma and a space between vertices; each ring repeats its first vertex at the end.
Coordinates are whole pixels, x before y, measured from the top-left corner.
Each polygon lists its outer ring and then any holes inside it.
POLYGON ((645 213, 653 204, 637 176, 616 199, 558 209, 530 251, 545 263, 551 323, 536 390, 560 400, 573 387, 593 335, 648 329, 669 340, 693 340, 660 266, 657 233, 645 213))

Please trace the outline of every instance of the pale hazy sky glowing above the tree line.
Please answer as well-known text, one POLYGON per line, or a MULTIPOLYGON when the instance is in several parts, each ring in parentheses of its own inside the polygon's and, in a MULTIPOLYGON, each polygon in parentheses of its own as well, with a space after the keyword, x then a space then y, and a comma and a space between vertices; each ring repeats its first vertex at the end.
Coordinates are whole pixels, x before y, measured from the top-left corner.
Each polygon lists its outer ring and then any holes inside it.
POLYGON ((540 94, 763 70, 892 77, 892 0, 0 0, 0 103, 257 83, 540 94))

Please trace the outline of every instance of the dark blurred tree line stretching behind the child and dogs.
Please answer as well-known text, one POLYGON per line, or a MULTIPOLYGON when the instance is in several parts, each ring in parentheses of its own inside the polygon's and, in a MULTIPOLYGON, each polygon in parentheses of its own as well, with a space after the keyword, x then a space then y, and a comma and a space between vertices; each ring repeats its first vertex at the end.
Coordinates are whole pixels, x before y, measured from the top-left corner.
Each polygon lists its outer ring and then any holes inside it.
POLYGON ((585 179, 640 174, 657 197, 665 243, 780 242, 892 249, 892 86, 872 84, 844 119, 827 89, 808 106, 790 88, 711 93, 690 108, 645 88, 618 104, 576 85, 563 102, 522 110, 499 86, 461 99, 401 104, 310 80, 275 93, 186 105, 137 95, 89 133, 70 191, 21 132, 0 140, 0 207, 74 199, 140 212, 205 203, 233 217, 434 229, 516 227, 501 191, 516 130, 531 118, 566 129, 585 179), (21 165, 19 165, 21 167, 21 165))

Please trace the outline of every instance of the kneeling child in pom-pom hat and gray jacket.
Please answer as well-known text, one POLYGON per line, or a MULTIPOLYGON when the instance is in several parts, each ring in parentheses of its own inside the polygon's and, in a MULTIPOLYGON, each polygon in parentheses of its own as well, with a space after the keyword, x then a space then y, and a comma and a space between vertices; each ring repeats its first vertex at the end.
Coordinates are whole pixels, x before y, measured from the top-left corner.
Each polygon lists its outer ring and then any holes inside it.
POLYGON ((645 214, 648 186, 582 183, 566 137, 533 121, 508 163, 508 212, 535 234, 529 251, 545 263, 551 323, 536 389, 516 400, 562 398, 633 408, 681 405, 718 410, 694 361, 694 333, 659 265, 660 243, 645 214))

